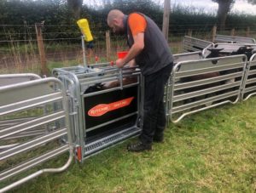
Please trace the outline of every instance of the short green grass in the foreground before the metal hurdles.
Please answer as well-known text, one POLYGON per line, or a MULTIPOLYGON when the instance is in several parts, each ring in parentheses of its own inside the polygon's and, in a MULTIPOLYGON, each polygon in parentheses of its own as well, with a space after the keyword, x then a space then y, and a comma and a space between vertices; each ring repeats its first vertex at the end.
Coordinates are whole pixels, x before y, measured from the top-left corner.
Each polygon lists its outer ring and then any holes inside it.
MULTIPOLYGON (((256 98, 187 116, 154 150, 130 153, 129 139, 63 173, 14 192, 255 192, 256 98)), ((58 162, 67 156, 58 158, 58 162)), ((50 164, 49 164, 50 165, 50 164)))

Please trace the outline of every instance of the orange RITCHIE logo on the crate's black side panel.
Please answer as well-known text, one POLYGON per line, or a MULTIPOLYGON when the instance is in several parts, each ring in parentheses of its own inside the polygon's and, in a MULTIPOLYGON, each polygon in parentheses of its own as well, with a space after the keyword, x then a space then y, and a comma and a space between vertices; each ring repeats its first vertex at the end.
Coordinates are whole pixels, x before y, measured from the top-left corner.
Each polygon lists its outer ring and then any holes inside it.
POLYGON ((116 102, 113 102, 110 104, 96 105, 88 111, 88 115, 89 116, 102 116, 102 115, 106 114, 108 111, 117 110, 117 109, 120 109, 120 108, 130 105, 132 99, 134 99, 134 97, 130 97, 127 99, 121 99, 119 101, 116 101, 116 102))

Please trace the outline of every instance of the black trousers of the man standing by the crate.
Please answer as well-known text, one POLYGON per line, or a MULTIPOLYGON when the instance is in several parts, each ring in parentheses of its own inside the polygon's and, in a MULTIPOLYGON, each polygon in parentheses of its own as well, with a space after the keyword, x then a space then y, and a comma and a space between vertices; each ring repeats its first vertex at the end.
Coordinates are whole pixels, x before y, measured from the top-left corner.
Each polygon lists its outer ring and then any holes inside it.
POLYGON ((163 137, 166 128, 166 111, 163 98, 165 85, 171 71, 172 64, 144 77, 143 129, 139 136, 144 144, 151 144, 154 136, 163 137))

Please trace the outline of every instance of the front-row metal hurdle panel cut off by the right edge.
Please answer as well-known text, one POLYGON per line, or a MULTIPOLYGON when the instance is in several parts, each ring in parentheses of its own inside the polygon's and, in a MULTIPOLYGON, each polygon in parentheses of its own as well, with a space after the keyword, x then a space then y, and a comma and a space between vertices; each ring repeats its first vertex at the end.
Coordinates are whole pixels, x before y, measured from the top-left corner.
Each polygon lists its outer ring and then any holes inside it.
POLYGON ((247 63, 247 71, 244 77, 241 99, 249 99, 256 94, 256 54, 253 54, 247 63))

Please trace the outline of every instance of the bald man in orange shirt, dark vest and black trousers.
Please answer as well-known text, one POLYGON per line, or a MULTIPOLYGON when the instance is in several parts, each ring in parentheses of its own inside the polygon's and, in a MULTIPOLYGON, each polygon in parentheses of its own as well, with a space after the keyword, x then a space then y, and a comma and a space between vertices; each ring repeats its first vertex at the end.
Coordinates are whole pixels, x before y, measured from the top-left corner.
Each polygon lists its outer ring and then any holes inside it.
POLYGON ((170 48, 159 27, 144 14, 125 15, 113 9, 108 13, 108 26, 114 33, 126 34, 130 47, 124 59, 116 60, 116 65, 122 68, 135 61, 131 64, 139 65, 145 80, 142 133, 137 143, 127 145, 127 150, 152 150, 153 141, 164 139, 164 88, 173 64, 170 48))

